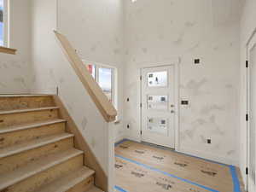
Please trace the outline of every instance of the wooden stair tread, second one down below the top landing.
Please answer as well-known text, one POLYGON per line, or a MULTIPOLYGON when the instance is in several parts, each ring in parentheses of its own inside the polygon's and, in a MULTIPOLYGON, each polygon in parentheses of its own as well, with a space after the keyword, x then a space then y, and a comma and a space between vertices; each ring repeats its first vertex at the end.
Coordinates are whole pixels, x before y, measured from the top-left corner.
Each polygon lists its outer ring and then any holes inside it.
POLYGON ((36 128, 36 127, 40 127, 40 126, 44 126, 44 125, 52 125, 52 124, 62 123, 62 122, 66 122, 66 121, 67 120, 65 120, 65 119, 51 119, 51 120, 38 121, 35 123, 24 124, 24 125, 13 125, 13 126, 9 126, 9 127, 0 129, 0 134, 13 132, 13 131, 22 131, 22 130, 32 129, 32 128, 36 128))

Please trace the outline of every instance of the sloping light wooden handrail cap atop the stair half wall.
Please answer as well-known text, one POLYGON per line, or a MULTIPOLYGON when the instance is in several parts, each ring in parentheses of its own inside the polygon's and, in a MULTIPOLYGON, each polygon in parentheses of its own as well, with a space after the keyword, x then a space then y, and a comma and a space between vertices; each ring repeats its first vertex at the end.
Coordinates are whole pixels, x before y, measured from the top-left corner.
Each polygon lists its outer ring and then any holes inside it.
POLYGON ((67 38, 59 32, 55 32, 56 38, 61 43, 61 46, 67 55, 68 61, 71 63, 75 73, 79 76, 80 81, 84 84, 84 88, 88 91, 91 99, 96 103, 96 107, 102 113, 103 118, 107 122, 112 122, 117 116, 117 111, 113 107, 112 102, 109 102, 108 97, 102 91, 96 80, 90 75, 83 61, 79 58, 73 46, 67 38))

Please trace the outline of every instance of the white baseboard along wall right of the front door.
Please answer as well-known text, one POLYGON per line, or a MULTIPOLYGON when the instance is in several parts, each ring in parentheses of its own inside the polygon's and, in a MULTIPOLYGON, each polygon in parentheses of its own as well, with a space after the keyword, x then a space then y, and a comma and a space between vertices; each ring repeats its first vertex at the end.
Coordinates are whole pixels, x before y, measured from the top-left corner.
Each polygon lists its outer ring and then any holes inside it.
POLYGON ((218 154, 209 154, 209 153, 206 153, 206 152, 197 151, 197 150, 192 149, 192 148, 179 148, 177 150, 177 152, 180 152, 180 153, 183 153, 183 154, 193 155, 195 157, 203 158, 203 159, 206 159, 206 160, 216 161, 218 163, 223 163, 223 164, 226 164, 226 165, 239 166, 239 160, 234 160, 234 159, 231 159, 231 158, 219 156, 218 154))

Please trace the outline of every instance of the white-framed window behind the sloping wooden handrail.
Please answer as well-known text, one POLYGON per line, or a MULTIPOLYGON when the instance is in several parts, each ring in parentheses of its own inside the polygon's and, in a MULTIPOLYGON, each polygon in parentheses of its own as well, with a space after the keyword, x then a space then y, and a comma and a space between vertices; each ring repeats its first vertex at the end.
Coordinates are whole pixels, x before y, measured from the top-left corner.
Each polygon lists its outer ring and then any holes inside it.
POLYGON ((98 64, 86 64, 91 76, 96 79, 103 92, 108 96, 108 100, 116 107, 115 101, 115 75, 116 69, 98 64))

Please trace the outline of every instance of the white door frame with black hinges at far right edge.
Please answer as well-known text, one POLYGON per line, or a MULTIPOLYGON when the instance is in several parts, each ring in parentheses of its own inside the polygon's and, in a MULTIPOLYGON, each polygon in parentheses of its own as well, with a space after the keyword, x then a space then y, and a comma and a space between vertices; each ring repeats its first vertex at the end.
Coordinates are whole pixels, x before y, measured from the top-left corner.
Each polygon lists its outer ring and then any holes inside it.
MULTIPOLYGON (((252 35, 248 38, 247 40, 247 44, 246 44, 246 56, 247 56, 247 61, 250 61, 250 49, 252 48, 251 47, 251 43, 252 41, 255 41, 255 38, 256 38, 256 28, 253 30, 252 32, 252 35)), ((249 63, 250 65, 250 63, 249 63)), ((247 67, 246 69, 246 80, 247 80, 247 93, 246 93, 246 105, 247 105, 247 114, 249 115, 250 114, 250 67, 247 67)), ((249 115, 250 116, 250 115, 249 115)), ((247 120, 247 167, 249 167, 249 145, 250 145, 250 140, 249 140, 249 130, 250 130, 250 119, 247 120)), ((249 174, 247 174, 246 176, 246 180, 247 180, 247 183, 246 183, 246 190, 249 189, 249 174)))

